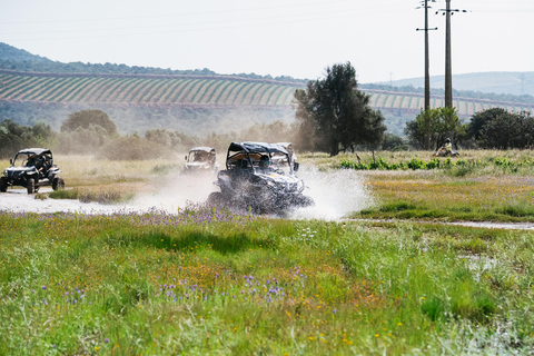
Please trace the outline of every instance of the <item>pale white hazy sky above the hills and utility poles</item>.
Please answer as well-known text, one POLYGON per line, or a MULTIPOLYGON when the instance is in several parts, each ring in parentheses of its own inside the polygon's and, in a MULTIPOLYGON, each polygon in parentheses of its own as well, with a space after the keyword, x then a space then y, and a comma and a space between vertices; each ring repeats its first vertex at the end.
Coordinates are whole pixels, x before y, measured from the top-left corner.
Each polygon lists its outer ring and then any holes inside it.
MULTIPOLYGON (((431 2, 429 2, 431 3, 431 2)), ((452 0, 453 73, 534 71, 533 0, 452 0)), ((317 79, 350 61, 360 82, 424 75, 416 0, 0 0, 0 42, 61 62, 317 79)), ((431 75, 445 17, 432 3, 431 75)))

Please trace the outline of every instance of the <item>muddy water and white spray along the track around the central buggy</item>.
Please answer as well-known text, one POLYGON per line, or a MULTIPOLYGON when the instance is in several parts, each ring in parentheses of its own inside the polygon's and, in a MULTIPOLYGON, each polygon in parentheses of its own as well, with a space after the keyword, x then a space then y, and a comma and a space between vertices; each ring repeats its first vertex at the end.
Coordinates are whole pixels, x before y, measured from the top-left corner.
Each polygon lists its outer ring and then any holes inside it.
MULTIPOLYGON (((358 211, 374 205, 370 192, 363 184, 363 177, 354 170, 318 170, 314 167, 303 168, 298 176, 306 184, 305 194, 312 197, 315 206, 296 209, 285 216, 289 219, 322 219, 344 220, 352 211, 358 211)), ((36 199, 28 195, 23 188, 8 189, 0 192, 0 210, 12 212, 80 212, 80 214, 112 214, 118 211, 142 212, 149 209, 164 210, 169 214, 188 204, 204 204, 211 191, 217 191, 214 185, 216 176, 174 175, 161 179, 157 185, 148 187, 146 192, 138 192, 136 198, 127 204, 102 205, 98 202, 80 202, 71 199, 36 199)), ((51 191, 43 187, 40 192, 51 191)), ((368 220, 359 220, 368 221, 368 220)), ((377 220, 378 221, 378 220, 377 220)), ((417 222, 417 221, 415 221, 417 222)), ((426 221, 418 221, 429 224, 426 221)), ((431 222, 441 225, 461 225, 481 228, 523 229, 534 230, 534 222, 506 224, 506 222, 431 222)))

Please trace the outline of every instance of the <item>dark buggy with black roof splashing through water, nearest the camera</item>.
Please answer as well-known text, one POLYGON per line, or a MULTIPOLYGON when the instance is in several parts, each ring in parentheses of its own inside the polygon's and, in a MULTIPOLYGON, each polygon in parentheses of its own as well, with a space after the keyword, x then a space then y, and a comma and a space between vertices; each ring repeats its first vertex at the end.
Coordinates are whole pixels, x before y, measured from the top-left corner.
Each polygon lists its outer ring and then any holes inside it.
POLYGON ((305 195, 304 181, 295 175, 289 152, 280 145, 231 142, 226 156, 226 170, 215 182, 220 191, 211 192, 208 205, 250 209, 254 214, 280 214, 293 208, 314 205, 305 195), (277 162, 288 162, 281 165, 277 162), (260 167, 260 162, 270 162, 260 167), (275 164, 273 164, 275 162, 275 164))

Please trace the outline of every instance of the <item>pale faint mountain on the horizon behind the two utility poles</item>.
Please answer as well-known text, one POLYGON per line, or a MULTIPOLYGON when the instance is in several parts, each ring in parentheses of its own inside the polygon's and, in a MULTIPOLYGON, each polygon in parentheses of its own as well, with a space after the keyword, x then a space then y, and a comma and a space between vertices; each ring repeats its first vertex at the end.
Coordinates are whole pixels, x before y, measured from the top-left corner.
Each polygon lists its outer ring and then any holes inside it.
MULTIPOLYGON (((424 88, 425 80, 423 77, 400 79, 379 85, 388 85, 395 87, 413 86, 415 88, 424 88)), ((431 77, 431 88, 444 89, 445 77, 431 77)), ((518 71, 495 71, 479 72, 453 76, 453 88, 461 91, 479 91, 485 93, 505 93, 514 96, 534 96, 534 72, 518 71)))

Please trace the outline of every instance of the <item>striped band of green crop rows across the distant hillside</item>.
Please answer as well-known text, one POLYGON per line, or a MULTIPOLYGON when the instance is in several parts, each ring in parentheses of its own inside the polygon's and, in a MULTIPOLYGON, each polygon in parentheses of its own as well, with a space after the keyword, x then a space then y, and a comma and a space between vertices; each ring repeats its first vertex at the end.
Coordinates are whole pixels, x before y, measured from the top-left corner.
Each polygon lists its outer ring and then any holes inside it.
MULTIPOLYGON (((289 107, 304 83, 257 80, 228 76, 61 75, 0 70, 0 100, 39 103, 102 103, 134 106, 253 106, 289 107)), ((369 106, 379 110, 418 113, 422 93, 364 89, 369 106)), ((444 99, 433 97, 432 108, 444 99)), ((501 107, 513 112, 533 111, 533 105, 455 98, 458 115, 469 117, 501 107)))

